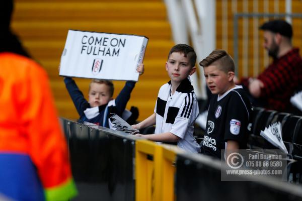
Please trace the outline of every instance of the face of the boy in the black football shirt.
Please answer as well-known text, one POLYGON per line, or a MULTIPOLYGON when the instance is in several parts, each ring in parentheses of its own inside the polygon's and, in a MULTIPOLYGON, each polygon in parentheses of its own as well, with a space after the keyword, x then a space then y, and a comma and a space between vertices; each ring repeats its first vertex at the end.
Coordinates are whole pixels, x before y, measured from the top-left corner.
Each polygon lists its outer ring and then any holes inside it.
POLYGON ((216 65, 203 67, 205 81, 212 94, 222 95, 232 88, 234 72, 225 73, 216 65))

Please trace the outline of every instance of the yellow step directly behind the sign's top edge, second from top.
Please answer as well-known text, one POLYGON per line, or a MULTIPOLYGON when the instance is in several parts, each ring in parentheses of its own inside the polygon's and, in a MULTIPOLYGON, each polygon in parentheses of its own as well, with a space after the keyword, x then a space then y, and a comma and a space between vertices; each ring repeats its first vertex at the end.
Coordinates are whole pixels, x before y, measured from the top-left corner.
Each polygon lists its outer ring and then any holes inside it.
POLYGON ((134 34, 149 39, 171 40, 170 25, 166 21, 14 21, 12 28, 22 34, 23 40, 64 40, 69 29, 106 32, 116 34, 134 34))

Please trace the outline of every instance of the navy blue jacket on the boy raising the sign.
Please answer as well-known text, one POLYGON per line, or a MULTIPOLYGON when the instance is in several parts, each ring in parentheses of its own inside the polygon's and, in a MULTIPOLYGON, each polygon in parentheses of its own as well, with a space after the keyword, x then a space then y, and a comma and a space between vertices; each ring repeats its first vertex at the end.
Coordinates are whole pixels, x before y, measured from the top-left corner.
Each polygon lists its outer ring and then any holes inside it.
POLYGON ((85 116, 84 111, 87 108, 91 108, 91 107, 88 101, 84 98, 82 91, 79 89, 77 84, 75 84, 72 78, 65 77, 64 82, 68 90, 68 93, 72 99, 72 102, 80 115, 80 119, 107 128, 109 128, 108 119, 110 113, 115 113, 120 117, 122 116, 122 113, 126 108, 128 100, 130 99, 130 93, 135 86, 134 81, 126 81, 125 86, 123 87, 123 89, 120 91, 120 93, 115 99, 115 106, 107 107, 108 104, 99 106, 100 114, 92 119, 88 119, 85 116))

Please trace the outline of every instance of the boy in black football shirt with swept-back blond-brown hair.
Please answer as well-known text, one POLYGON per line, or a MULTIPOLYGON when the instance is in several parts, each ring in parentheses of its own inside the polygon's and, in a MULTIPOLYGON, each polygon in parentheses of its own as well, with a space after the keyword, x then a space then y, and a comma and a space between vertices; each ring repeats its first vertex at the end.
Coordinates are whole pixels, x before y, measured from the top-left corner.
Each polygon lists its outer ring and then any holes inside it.
POLYGON ((253 109, 242 86, 234 83, 232 57, 216 49, 199 65, 203 66, 206 84, 213 94, 201 153, 220 158, 221 150, 246 149, 253 109))

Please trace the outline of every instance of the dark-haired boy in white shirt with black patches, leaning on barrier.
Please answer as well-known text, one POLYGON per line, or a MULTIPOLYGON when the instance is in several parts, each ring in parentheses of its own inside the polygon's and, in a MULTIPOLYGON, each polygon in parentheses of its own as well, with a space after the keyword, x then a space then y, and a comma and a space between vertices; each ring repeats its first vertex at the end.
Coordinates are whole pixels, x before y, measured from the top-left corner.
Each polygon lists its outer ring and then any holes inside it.
POLYGON ((199 110, 189 79, 189 75, 196 71, 195 63, 196 53, 192 47, 185 44, 172 47, 166 62, 171 80, 160 88, 154 114, 132 125, 136 129, 156 125, 155 135, 138 136, 157 142, 177 142, 177 146, 186 151, 200 152, 193 137, 199 110))

